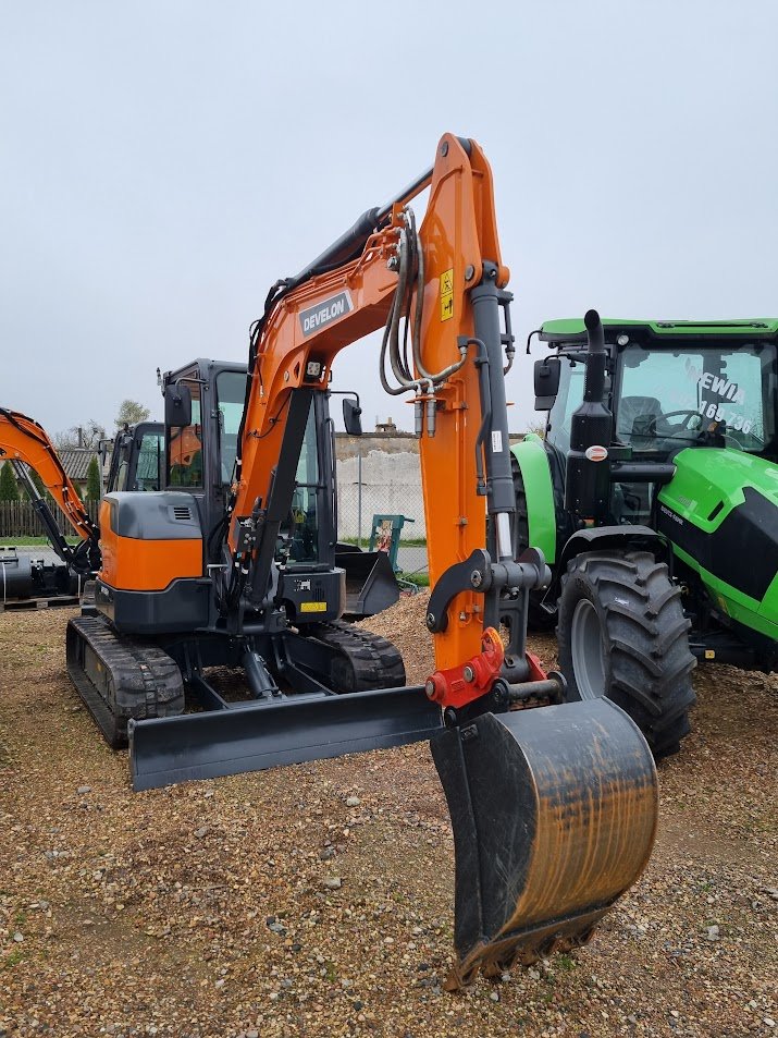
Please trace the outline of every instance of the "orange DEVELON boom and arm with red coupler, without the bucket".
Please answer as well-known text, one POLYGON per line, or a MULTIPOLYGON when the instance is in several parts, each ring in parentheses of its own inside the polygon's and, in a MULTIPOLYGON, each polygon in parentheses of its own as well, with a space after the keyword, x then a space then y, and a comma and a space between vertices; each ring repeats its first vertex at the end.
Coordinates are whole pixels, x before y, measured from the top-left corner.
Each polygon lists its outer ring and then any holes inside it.
POLYGON ((244 590, 257 606, 267 595, 311 393, 326 391, 342 349, 383 326, 381 381, 391 393, 411 394, 421 433, 434 587, 428 626, 439 668, 428 694, 443 706, 483 696, 501 671, 511 682, 530 676, 517 610, 545 567, 538 559, 538 564, 515 563, 513 555, 504 386, 506 356, 509 366, 514 352, 507 281, 489 163, 474 142, 446 134, 431 171, 271 290, 249 358, 229 533, 232 605, 244 590), (428 186, 417 233, 408 203, 428 186), (511 651, 498 662, 486 654, 491 670, 481 682, 462 684, 457 668, 482 657, 484 628, 511 613, 511 651))

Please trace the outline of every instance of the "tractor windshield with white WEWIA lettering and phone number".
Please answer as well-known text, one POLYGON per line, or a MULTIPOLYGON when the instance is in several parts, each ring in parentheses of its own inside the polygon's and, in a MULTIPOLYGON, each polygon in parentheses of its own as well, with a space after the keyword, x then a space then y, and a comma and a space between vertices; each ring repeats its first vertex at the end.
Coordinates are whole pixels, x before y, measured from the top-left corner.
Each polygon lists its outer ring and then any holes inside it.
POLYGON ((775 454, 774 344, 630 343, 618 370, 615 432, 633 451, 667 454, 716 437, 737 450, 775 454))

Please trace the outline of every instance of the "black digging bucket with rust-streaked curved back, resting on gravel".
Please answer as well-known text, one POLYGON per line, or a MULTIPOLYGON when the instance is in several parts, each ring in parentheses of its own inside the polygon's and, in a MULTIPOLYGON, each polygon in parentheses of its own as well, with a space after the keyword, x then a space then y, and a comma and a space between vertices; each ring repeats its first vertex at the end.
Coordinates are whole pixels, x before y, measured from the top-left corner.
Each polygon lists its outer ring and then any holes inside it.
POLYGON ((432 740, 456 863, 455 990, 584 944, 640 876, 656 770, 607 699, 486 713, 432 740))

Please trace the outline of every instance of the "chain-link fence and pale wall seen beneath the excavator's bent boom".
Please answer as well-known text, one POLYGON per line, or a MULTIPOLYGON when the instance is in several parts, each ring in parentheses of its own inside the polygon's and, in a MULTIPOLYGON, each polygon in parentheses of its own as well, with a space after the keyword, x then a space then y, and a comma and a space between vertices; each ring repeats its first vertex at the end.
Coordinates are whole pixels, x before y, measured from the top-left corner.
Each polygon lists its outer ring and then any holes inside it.
MULTIPOLYGON (((399 527, 397 565, 427 575, 427 527, 419 456, 368 451, 337 464, 337 534, 360 548, 378 548, 399 527)), ((396 535, 395 535, 396 536, 396 535)))

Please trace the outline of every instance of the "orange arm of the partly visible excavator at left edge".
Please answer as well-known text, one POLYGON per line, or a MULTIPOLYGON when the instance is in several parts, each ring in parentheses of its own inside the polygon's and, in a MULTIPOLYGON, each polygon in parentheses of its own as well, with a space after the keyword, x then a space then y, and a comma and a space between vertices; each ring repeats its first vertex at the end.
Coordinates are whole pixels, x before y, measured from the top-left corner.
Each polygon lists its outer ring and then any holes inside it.
POLYGON ((62 467, 48 433, 37 422, 17 411, 0 407, 0 459, 8 460, 17 478, 26 486, 30 500, 57 554, 77 573, 99 569, 99 529, 78 497, 62 467), (60 534, 47 502, 38 493, 27 468, 38 474, 61 512, 81 537, 82 544, 71 547, 60 534))

